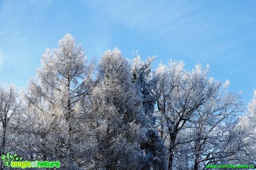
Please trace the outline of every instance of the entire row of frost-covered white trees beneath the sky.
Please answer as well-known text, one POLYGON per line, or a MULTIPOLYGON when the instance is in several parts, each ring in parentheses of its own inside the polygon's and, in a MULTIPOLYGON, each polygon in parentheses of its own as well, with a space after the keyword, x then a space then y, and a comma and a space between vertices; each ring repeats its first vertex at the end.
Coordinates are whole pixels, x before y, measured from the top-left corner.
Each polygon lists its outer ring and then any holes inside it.
MULTIPOLYGON (((88 61, 66 34, 46 49, 26 90, 0 87, 0 152, 60 161, 60 169, 206 169, 255 164, 256 91, 240 94, 170 60, 107 50, 88 61)), ((4 169, 1 163, 1 169, 4 169)))

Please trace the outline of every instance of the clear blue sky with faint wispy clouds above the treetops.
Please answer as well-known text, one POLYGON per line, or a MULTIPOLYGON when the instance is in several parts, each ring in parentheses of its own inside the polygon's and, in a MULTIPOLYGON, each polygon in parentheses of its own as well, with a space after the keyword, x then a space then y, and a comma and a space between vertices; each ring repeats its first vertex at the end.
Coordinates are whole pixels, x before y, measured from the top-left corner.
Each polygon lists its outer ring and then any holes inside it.
POLYGON ((99 61, 118 47, 125 58, 139 50, 153 63, 210 64, 215 79, 243 91, 256 89, 256 1, 0 1, 0 83, 26 87, 46 48, 66 33, 99 61))

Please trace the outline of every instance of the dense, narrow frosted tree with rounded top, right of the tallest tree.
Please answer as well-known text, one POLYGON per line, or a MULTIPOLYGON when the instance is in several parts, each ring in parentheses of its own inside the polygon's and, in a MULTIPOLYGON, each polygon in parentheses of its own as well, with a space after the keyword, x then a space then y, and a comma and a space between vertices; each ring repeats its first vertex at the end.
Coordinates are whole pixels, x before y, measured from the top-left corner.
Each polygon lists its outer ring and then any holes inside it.
POLYGON ((132 83, 131 66, 117 48, 102 56, 99 76, 92 93, 99 145, 95 168, 141 169, 145 164, 140 148, 145 141, 144 110, 132 83))

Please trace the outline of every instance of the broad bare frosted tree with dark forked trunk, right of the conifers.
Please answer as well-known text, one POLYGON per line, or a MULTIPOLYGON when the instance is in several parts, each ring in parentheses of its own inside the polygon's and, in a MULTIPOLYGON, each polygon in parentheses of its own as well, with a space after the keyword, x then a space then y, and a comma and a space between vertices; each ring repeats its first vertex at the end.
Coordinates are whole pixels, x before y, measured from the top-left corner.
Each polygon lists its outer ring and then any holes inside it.
MULTIPOLYGON (((198 169, 199 163, 209 162, 215 152, 224 153, 225 151, 217 149, 209 154, 209 141, 221 134, 218 131, 221 128, 218 127, 226 119, 241 110, 239 96, 226 92, 219 81, 208 78, 208 68, 196 65, 190 73, 184 69, 183 61, 170 60, 168 66, 160 64, 155 71, 154 81, 159 131, 169 148, 168 168, 182 169, 191 163, 189 157, 193 157, 194 166, 191 168, 198 169), (190 139, 185 139, 183 134, 190 139), (208 148, 205 148, 205 143, 209 144, 208 148), (186 160, 180 159, 184 156, 181 151, 184 153, 185 150, 191 153, 186 154, 186 160), (180 163, 184 163, 183 167, 180 167, 180 163)), ((216 146, 216 143, 211 146, 216 146)))

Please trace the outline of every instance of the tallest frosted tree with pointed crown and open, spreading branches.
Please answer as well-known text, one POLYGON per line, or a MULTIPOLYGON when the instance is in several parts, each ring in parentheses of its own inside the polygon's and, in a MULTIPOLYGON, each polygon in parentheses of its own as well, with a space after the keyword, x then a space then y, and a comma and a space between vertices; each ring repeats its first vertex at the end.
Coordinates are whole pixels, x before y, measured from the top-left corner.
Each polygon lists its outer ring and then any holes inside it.
POLYGON ((95 148, 87 126, 88 95, 95 85, 92 74, 93 64, 87 63, 81 45, 70 34, 58 42, 57 49, 46 49, 26 95, 31 157, 61 161, 66 169, 90 161, 95 148))

